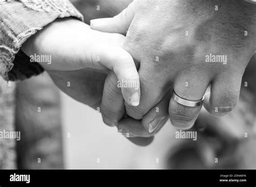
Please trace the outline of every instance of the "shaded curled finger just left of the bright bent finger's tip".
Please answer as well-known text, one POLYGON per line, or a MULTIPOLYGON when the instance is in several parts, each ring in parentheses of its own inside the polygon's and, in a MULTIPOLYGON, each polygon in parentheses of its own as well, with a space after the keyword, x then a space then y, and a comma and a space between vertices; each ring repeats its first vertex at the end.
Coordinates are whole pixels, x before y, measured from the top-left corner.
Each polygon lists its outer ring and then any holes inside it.
POLYGON ((125 113, 122 91, 117 88, 116 83, 117 76, 110 72, 105 80, 102 104, 100 105, 103 121, 109 126, 117 126, 118 121, 123 118, 125 113))

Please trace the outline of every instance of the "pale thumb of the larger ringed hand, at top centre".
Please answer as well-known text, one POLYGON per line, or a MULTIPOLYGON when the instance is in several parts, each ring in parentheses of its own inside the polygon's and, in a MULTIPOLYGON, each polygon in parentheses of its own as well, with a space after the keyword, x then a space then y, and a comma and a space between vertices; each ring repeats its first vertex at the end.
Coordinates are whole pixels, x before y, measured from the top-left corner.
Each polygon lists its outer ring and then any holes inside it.
POLYGON ((113 18, 92 19, 91 28, 102 32, 119 33, 126 35, 135 15, 135 2, 132 2, 119 15, 113 18))

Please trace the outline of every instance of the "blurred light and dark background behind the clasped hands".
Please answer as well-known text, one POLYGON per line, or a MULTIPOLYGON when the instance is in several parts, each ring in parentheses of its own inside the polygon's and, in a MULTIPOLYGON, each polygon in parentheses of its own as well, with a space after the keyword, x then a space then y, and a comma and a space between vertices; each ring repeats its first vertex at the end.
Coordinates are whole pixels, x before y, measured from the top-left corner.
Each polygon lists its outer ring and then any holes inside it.
MULTIPOLYGON (((90 19, 112 17, 130 0, 71 1, 90 19)), ((60 92, 44 73, 14 84, 0 81, 1 104, 14 102, 14 116, 0 130, 21 131, 21 141, 0 140, 1 169, 256 169, 256 58, 241 85, 240 100, 231 114, 214 118, 202 111, 196 126, 205 126, 198 140, 176 139, 167 121, 151 145, 140 147, 106 126, 101 114, 60 92), (245 84, 247 83, 247 84, 245 84), (12 90, 13 91, 13 90, 12 90), (38 107, 42 110, 38 113, 38 107), (14 123, 15 126, 6 126, 14 123), (227 126, 218 132, 214 127, 227 126), (211 128, 208 128, 211 127, 211 128), (217 133, 218 132, 218 133, 217 133), (235 136, 230 137, 232 132, 235 136), (245 136, 247 133, 247 137, 245 136), (216 160, 217 159, 217 160, 216 160), (217 161, 217 162, 216 162, 217 161)), ((3 106, 3 105, 2 105, 3 106)), ((2 110, 1 110, 2 109, 2 110)), ((0 122, 1 122, 0 118, 0 122)))

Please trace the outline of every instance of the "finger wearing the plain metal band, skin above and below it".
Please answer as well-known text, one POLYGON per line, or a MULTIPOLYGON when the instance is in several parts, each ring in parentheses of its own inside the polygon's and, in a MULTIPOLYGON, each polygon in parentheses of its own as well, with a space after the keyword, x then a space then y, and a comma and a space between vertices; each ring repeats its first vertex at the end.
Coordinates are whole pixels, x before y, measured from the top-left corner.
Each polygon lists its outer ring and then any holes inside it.
MULTIPOLYGON (((208 83, 209 81, 203 76, 181 75, 174 82, 174 91, 183 99, 197 101, 203 98, 208 83)), ((201 107, 202 104, 193 107, 179 104, 172 97, 169 104, 172 125, 183 130, 191 128, 199 115, 201 107)))

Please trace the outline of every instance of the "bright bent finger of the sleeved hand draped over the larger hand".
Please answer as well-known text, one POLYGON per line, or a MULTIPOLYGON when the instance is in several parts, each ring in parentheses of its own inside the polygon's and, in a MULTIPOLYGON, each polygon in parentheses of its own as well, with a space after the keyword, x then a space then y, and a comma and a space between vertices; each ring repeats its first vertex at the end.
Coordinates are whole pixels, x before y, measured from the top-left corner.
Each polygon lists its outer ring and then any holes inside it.
POLYGON ((103 47, 93 50, 92 65, 97 63, 111 69, 117 75, 116 86, 122 89, 124 100, 131 106, 138 106, 140 100, 139 75, 132 56, 121 47, 103 47), (100 53, 99 52, 103 52, 100 53))

